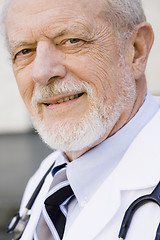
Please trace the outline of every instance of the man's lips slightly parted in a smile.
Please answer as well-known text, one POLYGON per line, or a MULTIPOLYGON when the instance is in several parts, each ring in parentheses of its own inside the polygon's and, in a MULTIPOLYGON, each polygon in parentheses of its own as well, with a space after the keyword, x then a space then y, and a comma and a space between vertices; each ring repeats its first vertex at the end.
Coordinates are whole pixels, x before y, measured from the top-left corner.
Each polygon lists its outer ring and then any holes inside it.
POLYGON ((58 95, 55 97, 50 97, 50 98, 46 98, 42 101, 40 101, 39 103, 44 105, 46 108, 53 108, 55 106, 60 106, 60 105, 64 105, 64 104, 70 104, 75 102, 76 100, 78 100, 80 97, 82 97, 85 94, 85 92, 76 92, 76 93, 68 93, 68 94, 62 94, 62 95, 58 95), (68 101, 64 101, 62 103, 58 103, 58 101, 60 101, 63 98, 67 98, 67 97, 71 97, 71 96, 75 96, 75 95, 80 95, 77 98, 74 99, 70 99, 68 101))

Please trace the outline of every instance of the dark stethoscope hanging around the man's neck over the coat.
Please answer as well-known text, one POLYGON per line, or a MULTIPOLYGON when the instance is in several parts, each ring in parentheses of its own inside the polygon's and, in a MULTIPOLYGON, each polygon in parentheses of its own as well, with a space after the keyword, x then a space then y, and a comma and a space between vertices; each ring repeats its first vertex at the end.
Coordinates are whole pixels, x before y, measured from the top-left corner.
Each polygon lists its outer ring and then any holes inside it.
MULTIPOLYGON (((27 226, 27 223, 28 223, 29 217, 30 217, 28 212, 31 210, 31 208, 43 186, 43 183, 44 183, 47 175, 52 170, 54 164, 55 164, 55 162, 51 165, 51 167, 47 170, 47 172, 45 173, 45 175, 39 182, 37 188, 35 189, 34 193, 32 194, 32 196, 31 196, 30 200, 28 201, 21 216, 19 213, 17 213, 11 220, 10 224, 8 225, 7 233, 14 235, 12 240, 19 240, 22 237, 23 232, 27 226)), ((154 202, 160 206, 160 182, 158 183, 158 185, 155 187, 155 189, 153 190, 153 192, 151 194, 139 197, 129 206, 129 208, 125 212, 125 215, 124 215, 124 218, 123 218, 123 221, 121 224, 121 228, 120 228, 120 232, 119 232, 119 236, 118 236, 119 239, 126 238, 126 235, 127 235, 127 232, 130 227, 130 224, 131 224, 131 221, 132 221, 135 211, 139 207, 141 207, 142 205, 144 205, 148 202, 154 202)), ((160 223, 157 228, 155 240, 160 240, 160 223)))

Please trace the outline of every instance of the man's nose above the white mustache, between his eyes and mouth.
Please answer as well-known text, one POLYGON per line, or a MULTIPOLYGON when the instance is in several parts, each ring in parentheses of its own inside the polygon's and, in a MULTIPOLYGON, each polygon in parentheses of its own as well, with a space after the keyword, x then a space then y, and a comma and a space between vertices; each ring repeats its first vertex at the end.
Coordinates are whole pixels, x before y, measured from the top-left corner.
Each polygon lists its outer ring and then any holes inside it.
POLYGON ((39 42, 32 70, 33 81, 46 85, 50 80, 64 78, 66 68, 62 59, 62 53, 52 43, 39 42))

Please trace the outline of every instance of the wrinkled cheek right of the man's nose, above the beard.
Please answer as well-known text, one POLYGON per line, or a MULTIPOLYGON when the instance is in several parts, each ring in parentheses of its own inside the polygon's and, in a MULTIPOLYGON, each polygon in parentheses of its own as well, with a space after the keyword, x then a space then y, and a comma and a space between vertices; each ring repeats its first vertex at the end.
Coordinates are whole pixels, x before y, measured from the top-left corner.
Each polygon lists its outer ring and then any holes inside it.
POLYGON ((83 56, 69 56, 66 66, 76 78, 90 84, 96 96, 106 97, 115 92, 118 79, 117 60, 109 60, 107 56, 97 51, 83 56))

